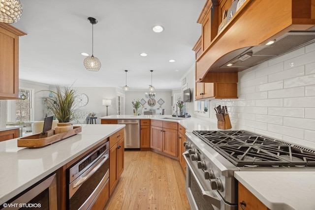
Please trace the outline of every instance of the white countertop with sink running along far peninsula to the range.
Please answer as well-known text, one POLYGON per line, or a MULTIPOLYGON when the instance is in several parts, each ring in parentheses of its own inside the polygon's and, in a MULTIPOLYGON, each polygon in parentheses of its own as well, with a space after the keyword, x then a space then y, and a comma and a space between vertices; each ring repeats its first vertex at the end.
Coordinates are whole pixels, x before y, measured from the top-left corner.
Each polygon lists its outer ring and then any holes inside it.
POLYGON ((210 122, 210 120, 202 120, 194 117, 190 118, 176 118, 171 115, 110 115, 106 117, 101 117, 100 119, 117 119, 117 120, 164 120, 164 121, 175 121, 180 123, 186 128, 186 131, 191 132, 193 130, 218 130, 217 123, 210 122))

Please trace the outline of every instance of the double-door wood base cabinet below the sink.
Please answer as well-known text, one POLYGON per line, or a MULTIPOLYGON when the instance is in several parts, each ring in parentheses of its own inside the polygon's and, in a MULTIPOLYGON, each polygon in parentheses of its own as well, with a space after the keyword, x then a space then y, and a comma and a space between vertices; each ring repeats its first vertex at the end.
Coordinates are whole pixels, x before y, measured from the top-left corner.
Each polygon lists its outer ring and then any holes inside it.
POLYGON ((178 157, 178 123, 151 120, 151 148, 178 157))

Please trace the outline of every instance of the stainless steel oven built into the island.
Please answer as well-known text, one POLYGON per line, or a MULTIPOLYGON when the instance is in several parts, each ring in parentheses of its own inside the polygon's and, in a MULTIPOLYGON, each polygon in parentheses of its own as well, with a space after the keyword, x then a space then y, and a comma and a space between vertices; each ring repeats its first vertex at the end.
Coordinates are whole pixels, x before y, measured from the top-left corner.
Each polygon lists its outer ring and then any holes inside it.
MULTIPOLYGON (((109 181, 109 142, 67 169, 67 209, 90 210, 109 181)), ((101 198, 106 199, 106 198, 101 198)))

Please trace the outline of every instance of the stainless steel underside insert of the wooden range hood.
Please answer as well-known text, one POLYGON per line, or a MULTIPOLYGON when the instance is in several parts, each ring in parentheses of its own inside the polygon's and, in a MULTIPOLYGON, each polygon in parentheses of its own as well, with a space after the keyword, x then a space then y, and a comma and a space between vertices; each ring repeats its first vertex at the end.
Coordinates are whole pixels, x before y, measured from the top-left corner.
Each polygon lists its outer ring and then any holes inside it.
POLYGON ((224 63, 220 63, 219 68, 242 71, 313 42, 315 42, 315 31, 290 31, 275 39, 271 45, 253 46, 229 53, 222 57, 224 63))

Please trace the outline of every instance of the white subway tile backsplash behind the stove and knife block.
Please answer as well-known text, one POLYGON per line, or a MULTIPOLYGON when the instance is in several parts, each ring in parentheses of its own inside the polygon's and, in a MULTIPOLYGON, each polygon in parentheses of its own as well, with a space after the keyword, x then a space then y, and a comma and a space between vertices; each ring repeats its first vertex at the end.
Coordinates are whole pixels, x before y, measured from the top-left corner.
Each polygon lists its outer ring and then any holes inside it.
MULTIPOLYGON (((246 129, 315 149, 315 44, 239 73, 238 99, 226 105, 232 129, 246 129)), ((216 122, 215 111, 210 109, 216 122)), ((198 117, 198 116, 197 116, 198 117)))

